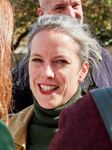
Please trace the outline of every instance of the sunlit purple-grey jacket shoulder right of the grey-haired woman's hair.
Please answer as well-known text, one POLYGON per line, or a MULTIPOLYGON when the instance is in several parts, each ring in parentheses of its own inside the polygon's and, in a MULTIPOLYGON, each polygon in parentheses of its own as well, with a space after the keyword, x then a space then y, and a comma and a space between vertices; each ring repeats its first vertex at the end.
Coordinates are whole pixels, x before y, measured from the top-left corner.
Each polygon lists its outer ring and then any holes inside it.
POLYGON ((93 80, 99 88, 112 86, 112 57, 108 51, 102 48, 102 61, 98 69, 93 68, 93 80))

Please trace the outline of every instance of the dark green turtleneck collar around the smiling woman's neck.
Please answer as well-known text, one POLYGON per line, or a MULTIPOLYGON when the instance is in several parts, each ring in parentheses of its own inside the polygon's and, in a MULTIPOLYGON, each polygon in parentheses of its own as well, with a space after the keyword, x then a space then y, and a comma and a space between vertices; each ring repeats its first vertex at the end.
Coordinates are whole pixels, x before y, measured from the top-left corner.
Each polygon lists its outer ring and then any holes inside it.
POLYGON ((35 124, 46 126, 46 127, 58 127, 58 120, 59 120, 59 114, 60 111, 63 108, 68 107, 72 103, 74 103, 76 100, 78 100, 81 97, 81 88, 78 87, 78 90, 76 94, 69 100, 65 105, 62 105, 60 107, 57 107, 55 109, 44 109, 42 108, 35 97, 34 99, 34 115, 33 115, 33 121, 35 124))

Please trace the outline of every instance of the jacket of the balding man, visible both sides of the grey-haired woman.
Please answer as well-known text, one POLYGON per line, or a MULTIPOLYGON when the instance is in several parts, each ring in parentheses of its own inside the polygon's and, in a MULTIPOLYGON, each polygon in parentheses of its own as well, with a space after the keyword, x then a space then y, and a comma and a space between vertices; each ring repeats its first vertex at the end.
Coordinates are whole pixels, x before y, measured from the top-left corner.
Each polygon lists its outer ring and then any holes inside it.
MULTIPOLYGON (((98 87, 109 87, 112 86, 112 57, 110 53, 102 48, 102 60, 99 62, 99 68, 93 68, 90 74, 92 79, 92 85, 89 82, 89 76, 86 77, 84 83, 82 83, 82 95, 87 94, 91 89, 98 87)), ((22 73, 21 76, 23 76, 22 73)), ((13 77, 13 112, 19 112, 24 108, 33 104, 32 92, 29 88, 29 79, 26 83, 27 86, 21 87, 21 84, 18 82, 19 77, 19 68, 16 67, 12 72, 13 77), (15 71, 16 70, 16 71, 15 71)))

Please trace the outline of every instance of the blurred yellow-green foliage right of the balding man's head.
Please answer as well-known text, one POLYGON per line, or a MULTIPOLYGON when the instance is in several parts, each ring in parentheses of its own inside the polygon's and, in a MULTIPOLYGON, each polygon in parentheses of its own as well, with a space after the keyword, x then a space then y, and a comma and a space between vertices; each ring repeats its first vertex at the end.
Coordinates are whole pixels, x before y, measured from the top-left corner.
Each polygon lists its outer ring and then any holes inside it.
POLYGON ((84 20, 102 45, 112 44, 112 0, 82 0, 84 20))

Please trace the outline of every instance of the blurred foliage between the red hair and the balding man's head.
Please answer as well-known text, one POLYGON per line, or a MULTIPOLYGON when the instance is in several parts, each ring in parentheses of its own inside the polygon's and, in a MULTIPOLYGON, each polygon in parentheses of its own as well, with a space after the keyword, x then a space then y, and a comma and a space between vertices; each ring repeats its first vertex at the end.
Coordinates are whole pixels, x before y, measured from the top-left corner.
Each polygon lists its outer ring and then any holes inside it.
POLYGON ((14 9, 15 28, 14 28, 14 49, 21 40, 28 34, 30 25, 38 17, 38 0, 11 0, 14 9))

